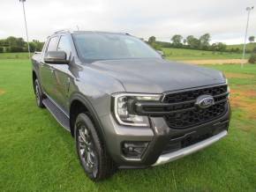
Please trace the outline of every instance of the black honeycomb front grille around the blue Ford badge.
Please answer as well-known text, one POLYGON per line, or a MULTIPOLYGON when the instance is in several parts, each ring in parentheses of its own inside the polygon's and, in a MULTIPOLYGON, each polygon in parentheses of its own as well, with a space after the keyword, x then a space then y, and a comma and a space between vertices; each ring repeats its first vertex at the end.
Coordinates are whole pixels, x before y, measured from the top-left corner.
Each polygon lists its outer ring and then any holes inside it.
POLYGON ((187 129, 204 122, 213 121, 222 116, 227 110, 227 85, 207 87, 186 92, 167 94, 163 103, 168 103, 164 118, 172 129, 187 129), (215 105, 205 109, 195 107, 195 101, 200 95, 212 95, 215 105))

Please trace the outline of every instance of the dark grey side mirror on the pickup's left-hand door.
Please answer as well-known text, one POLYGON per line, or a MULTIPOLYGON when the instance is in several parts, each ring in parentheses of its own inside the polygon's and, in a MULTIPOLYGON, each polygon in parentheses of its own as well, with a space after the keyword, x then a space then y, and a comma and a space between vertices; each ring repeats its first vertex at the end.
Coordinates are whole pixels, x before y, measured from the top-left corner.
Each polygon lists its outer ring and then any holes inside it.
POLYGON ((44 56, 45 63, 68 64, 67 55, 64 51, 48 51, 44 56))

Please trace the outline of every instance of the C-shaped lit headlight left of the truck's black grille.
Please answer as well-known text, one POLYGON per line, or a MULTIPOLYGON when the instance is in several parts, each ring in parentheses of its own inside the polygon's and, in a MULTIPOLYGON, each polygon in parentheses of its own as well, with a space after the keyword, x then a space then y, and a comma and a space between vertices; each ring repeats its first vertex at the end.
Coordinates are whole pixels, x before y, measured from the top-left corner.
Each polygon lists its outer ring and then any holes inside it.
POLYGON ((137 115, 133 111, 136 101, 158 101, 161 94, 117 93, 113 95, 114 114, 117 122, 123 125, 149 127, 147 116, 137 115))

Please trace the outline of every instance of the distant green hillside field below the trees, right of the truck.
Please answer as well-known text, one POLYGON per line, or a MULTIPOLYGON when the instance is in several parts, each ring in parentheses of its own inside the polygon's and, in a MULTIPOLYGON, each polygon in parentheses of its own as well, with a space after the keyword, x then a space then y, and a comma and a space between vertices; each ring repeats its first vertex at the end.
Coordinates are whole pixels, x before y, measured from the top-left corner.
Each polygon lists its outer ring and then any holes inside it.
MULTIPOLYGON (((184 48, 162 48, 169 60, 205 60, 205 59, 241 59, 241 54, 227 52, 212 52, 184 48)), ((246 55, 246 58, 249 55, 246 55)))

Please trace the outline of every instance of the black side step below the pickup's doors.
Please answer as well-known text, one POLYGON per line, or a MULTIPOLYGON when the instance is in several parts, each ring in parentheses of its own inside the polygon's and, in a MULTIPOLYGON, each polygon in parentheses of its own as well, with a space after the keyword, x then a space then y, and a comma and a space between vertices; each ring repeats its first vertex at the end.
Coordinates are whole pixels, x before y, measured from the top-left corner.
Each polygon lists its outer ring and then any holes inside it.
POLYGON ((56 118, 56 121, 61 124, 61 126, 64 127, 64 129, 70 131, 70 119, 69 117, 64 114, 64 112, 59 108, 56 107, 56 104, 54 104, 51 100, 48 98, 42 100, 42 103, 49 112, 56 118))

